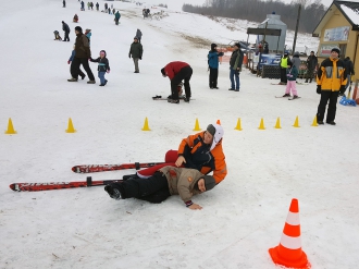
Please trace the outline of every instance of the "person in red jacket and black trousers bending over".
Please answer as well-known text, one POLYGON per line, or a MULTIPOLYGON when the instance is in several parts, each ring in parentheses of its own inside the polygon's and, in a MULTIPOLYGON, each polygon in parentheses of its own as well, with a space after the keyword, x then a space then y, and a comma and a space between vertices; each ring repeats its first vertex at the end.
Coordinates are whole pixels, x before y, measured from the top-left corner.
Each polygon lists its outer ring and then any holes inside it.
POLYGON ((171 95, 169 96, 169 102, 180 103, 177 86, 182 81, 185 81, 186 98, 184 101, 189 102, 190 99, 190 85, 189 81, 193 74, 193 70, 186 62, 170 62, 163 69, 161 69, 162 75, 168 76, 171 80, 171 95))

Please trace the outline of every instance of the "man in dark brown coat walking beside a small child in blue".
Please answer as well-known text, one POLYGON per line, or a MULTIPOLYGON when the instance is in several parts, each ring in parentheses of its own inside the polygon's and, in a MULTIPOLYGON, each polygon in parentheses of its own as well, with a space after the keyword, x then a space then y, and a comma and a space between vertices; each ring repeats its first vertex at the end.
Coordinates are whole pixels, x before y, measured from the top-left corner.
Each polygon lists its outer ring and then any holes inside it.
POLYGON ((83 34, 83 28, 79 26, 75 27, 76 42, 75 42, 75 57, 71 64, 72 78, 67 82, 77 82, 79 65, 83 64, 89 81, 87 84, 95 84, 95 76, 91 69, 88 65, 88 59, 91 58, 91 51, 88 44, 88 38, 83 34))

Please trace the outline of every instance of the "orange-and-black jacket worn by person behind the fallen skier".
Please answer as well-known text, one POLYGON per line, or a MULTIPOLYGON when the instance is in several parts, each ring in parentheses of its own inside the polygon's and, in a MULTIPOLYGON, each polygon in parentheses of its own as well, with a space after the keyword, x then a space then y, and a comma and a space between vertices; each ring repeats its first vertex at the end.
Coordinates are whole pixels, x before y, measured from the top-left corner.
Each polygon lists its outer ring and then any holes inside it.
POLYGON ((213 171, 213 178, 218 184, 227 174, 225 156, 222 149, 223 138, 210 150, 211 145, 203 143, 205 132, 184 138, 178 147, 178 156, 183 156, 186 159, 186 163, 184 163, 186 168, 197 169, 202 174, 213 171))

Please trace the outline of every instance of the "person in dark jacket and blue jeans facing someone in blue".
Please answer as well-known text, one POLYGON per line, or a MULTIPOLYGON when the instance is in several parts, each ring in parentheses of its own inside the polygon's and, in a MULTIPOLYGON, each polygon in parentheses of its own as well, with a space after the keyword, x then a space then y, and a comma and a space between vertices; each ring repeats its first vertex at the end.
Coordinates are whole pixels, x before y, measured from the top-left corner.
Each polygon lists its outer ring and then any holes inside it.
POLYGON ((230 80, 231 88, 228 90, 239 91, 239 72, 242 71, 244 53, 240 50, 240 44, 236 42, 230 60, 230 80))

